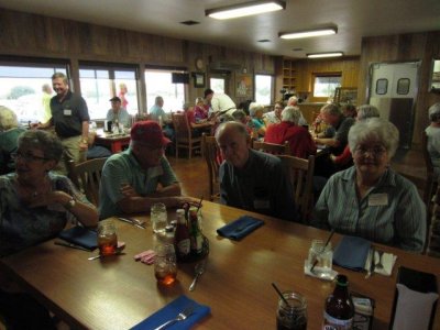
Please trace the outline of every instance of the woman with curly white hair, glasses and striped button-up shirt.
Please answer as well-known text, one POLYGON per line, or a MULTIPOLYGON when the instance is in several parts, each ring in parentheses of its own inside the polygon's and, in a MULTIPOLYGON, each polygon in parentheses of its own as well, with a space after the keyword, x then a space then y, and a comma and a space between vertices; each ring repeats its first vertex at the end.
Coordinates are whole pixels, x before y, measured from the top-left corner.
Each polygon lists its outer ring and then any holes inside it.
POLYGON ((421 252, 426 209, 416 186, 389 168, 396 127, 372 118, 349 132, 354 166, 334 174, 315 206, 312 226, 421 252))

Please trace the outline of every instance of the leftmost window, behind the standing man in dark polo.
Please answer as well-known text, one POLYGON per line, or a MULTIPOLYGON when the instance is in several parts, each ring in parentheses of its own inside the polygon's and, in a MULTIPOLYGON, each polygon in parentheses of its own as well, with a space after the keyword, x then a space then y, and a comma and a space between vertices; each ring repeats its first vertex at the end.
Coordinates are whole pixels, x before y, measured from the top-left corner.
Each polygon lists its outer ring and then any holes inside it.
POLYGON ((46 121, 42 87, 52 87, 57 72, 67 75, 67 64, 0 62, 0 105, 15 111, 20 123, 46 121))

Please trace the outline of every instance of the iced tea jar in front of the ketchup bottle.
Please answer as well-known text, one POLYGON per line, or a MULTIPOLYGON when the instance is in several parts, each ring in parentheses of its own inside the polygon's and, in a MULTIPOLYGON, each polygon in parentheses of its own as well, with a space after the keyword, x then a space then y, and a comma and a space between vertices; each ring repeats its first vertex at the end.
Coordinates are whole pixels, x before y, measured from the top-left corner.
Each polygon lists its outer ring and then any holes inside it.
POLYGON ((176 252, 173 244, 158 244, 155 248, 154 276, 163 285, 172 285, 177 277, 176 252))

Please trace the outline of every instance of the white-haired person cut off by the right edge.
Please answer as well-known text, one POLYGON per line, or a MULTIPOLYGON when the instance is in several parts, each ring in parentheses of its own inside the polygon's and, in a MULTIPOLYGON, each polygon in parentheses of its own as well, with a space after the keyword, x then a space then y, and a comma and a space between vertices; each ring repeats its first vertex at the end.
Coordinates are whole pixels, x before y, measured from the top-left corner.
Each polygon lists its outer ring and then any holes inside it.
POLYGON ((425 132, 428 136, 428 152, 437 176, 440 176, 440 102, 429 108, 431 123, 425 132))

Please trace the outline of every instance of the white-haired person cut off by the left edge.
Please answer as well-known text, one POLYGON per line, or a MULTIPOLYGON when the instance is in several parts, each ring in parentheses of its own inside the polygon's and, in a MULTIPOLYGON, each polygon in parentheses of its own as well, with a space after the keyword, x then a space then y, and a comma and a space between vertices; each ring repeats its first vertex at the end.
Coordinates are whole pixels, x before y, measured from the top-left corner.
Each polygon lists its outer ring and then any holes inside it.
POLYGON ((15 162, 11 154, 16 151, 19 135, 24 129, 19 128, 16 114, 0 106, 0 175, 14 172, 15 162))

